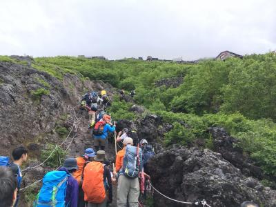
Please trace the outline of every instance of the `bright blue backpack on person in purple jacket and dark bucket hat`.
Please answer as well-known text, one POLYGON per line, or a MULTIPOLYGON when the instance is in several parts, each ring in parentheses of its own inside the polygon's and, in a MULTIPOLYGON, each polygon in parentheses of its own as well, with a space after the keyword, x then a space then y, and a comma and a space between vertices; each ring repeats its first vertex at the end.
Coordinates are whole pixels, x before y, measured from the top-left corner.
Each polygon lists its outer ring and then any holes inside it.
POLYGON ((65 207, 67 172, 51 171, 43 177, 43 184, 34 201, 34 207, 65 207))

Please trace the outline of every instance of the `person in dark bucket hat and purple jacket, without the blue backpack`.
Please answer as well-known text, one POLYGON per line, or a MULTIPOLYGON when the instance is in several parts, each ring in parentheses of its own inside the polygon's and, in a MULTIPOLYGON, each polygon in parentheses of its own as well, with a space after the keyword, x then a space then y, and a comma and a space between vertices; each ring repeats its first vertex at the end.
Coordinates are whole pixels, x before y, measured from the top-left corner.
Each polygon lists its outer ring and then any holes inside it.
POLYGON ((66 197, 65 206, 77 207, 78 195, 79 195, 79 184, 77 180, 72 177, 72 174, 77 171, 77 160, 75 158, 67 158, 59 171, 65 171, 67 173, 67 186, 66 186, 66 197))

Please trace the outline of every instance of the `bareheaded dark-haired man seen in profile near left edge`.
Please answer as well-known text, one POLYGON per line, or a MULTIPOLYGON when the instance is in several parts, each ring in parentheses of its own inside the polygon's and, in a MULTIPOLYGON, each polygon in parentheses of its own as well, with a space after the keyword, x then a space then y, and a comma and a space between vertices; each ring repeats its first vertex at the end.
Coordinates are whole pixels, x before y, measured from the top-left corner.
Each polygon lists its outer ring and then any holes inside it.
POLYGON ((17 200, 15 201, 14 207, 18 205, 19 201, 19 190, 21 186, 22 173, 21 166, 24 162, 27 161, 28 158, 28 150, 23 146, 15 148, 12 151, 13 162, 10 164, 10 169, 15 177, 17 177, 17 200))

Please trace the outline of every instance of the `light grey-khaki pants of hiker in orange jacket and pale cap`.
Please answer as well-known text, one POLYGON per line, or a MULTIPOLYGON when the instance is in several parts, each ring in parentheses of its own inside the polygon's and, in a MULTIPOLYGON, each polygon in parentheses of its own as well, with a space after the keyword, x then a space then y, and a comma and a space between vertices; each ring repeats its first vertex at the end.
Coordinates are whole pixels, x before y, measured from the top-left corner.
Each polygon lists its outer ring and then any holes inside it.
POLYGON ((138 207, 140 195, 139 180, 137 178, 128 178, 120 175, 117 189, 117 207, 126 207, 127 201, 129 207, 138 207))

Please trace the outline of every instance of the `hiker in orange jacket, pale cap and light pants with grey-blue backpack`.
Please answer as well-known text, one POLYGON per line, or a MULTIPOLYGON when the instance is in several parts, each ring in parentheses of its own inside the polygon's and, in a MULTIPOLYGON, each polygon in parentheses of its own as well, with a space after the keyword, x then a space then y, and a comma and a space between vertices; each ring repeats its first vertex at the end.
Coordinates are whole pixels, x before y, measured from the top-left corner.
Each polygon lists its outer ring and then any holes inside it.
POLYGON ((138 207, 140 194, 138 177, 143 168, 141 148, 132 146, 133 140, 130 137, 126 137, 123 144, 124 148, 117 153, 116 157, 116 171, 119 176, 117 206, 125 207, 128 203, 129 207, 138 207))

